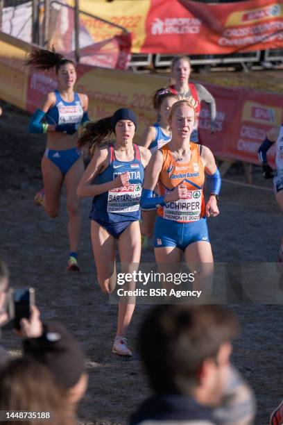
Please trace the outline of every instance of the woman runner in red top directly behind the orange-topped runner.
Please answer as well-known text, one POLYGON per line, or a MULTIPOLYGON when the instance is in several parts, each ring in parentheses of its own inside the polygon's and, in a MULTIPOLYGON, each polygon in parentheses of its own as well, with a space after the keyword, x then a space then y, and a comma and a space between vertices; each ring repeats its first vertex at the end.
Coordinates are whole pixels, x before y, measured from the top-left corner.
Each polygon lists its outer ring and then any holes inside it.
POLYGON ((173 93, 179 94, 180 97, 194 97, 197 102, 196 121, 194 129, 191 132, 191 142, 198 143, 198 116, 200 115, 200 103, 205 101, 209 104, 211 133, 215 132, 216 127, 216 104, 214 97, 202 84, 189 83, 191 74, 191 62, 187 56, 176 56, 171 63, 171 73, 173 84, 169 86, 173 93))

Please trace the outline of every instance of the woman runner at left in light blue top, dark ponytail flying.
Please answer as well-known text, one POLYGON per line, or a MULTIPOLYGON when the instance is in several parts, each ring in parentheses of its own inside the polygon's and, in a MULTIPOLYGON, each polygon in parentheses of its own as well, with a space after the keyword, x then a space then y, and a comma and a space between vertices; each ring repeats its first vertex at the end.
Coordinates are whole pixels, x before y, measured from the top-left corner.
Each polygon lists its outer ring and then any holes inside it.
POLYGON ((49 217, 57 217, 63 181, 67 188, 69 215, 69 259, 67 269, 78 271, 80 241, 80 199, 76 194, 84 172, 83 158, 78 151, 78 126, 89 121, 88 97, 74 92, 76 69, 74 62, 49 50, 34 50, 27 65, 37 69, 55 68, 58 89, 46 95, 40 109, 31 118, 30 133, 47 133, 47 145, 41 162, 44 182, 44 209, 49 217), (44 124, 42 121, 44 120, 44 124))

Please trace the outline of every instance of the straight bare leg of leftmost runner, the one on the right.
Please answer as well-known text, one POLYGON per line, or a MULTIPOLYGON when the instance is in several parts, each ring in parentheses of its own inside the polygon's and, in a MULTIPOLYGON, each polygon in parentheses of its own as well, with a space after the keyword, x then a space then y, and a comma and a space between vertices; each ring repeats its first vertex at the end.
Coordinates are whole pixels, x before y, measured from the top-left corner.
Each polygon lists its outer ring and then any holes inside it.
POLYGON ((76 163, 74 163, 65 176, 65 183, 67 189, 67 212, 69 215, 68 233, 70 251, 76 252, 80 242, 80 228, 82 224, 82 215, 80 211, 80 198, 76 191, 78 183, 85 167, 83 165, 83 158, 80 156, 76 163))

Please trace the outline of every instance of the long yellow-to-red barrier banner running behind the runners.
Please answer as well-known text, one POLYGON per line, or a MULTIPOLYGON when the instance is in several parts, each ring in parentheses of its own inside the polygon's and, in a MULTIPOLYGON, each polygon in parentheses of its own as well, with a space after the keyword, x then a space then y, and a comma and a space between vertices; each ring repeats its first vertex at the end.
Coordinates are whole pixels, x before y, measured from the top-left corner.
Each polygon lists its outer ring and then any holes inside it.
MULTIPOLYGON (((24 67, 31 46, 0 33, 0 98, 33 113, 46 93, 55 90, 55 74, 24 67)), ((156 121, 153 93, 169 79, 80 64, 76 67, 76 90, 89 97, 89 117, 100 119, 121 107, 137 113, 136 142, 145 128, 156 121)), ((259 164, 257 150, 266 132, 283 122, 283 96, 245 88, 225 88, 205 83, 216 99, 216 132, 210 133, 206 103, 200 110, 200 138, 215 156, 259 164)), ((274 164, 275 147, 268 151, 274 164)))

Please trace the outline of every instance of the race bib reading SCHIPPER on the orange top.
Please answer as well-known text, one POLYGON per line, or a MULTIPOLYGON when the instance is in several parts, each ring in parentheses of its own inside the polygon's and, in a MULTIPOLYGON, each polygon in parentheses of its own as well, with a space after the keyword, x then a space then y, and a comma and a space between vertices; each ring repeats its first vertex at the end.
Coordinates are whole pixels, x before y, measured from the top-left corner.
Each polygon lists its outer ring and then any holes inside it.
POLYGON ((200 219, 202 190, 189 190, 187 199, 166 203, 163 217, 175 222, 195 222, 200 219))

